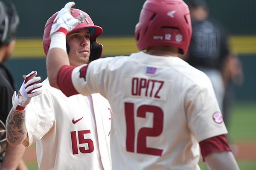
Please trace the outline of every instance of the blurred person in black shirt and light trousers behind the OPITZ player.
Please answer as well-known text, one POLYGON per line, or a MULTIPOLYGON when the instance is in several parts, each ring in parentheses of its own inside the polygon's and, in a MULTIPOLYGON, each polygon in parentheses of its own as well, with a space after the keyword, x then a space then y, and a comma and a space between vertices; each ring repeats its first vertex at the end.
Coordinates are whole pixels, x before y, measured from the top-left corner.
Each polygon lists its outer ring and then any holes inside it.
POLYGON ((225 88, 221 71, 225 58, 230 54, 226 31, 209 18, 209 9, 204 0, 185 2, 189 6, 193 33, 189 50, 183 59, 211 79, 219 107, 223 111, 225 88))

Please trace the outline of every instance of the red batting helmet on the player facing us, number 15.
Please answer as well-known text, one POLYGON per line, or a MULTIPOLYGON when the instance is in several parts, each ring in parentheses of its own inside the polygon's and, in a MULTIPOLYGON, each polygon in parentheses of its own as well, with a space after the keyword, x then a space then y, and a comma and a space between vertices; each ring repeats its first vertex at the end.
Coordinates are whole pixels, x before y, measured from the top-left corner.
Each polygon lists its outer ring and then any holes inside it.
MULTIPOLYGON (((86 14, 87 18, 79 23, 72 31, 76 31, 81 28, 88 28, 90 30, 90 48, 91 48, 91 54, 89 61, 92 61, 94 59, 98 59, 102 55, 103 51, 103 45, 96 42, 96 38, 99 37, 103 33, 103 29, 100 26, 95 26, 93 23, 93 20, 90 18, 90 16, 85 13, 84 11, 81 11, 80 9, 72 8, 74 11, 73 14, 71 14, 73 17, 78 17, 81 14, 86 14)), ((52 15, 52 17, 47 20, 46 25, 44 26, 44 38, 43 38, 43 46, 44 46, 44 53, 47 55, 49 51, 50 46, 50 31, 52 28, 53 21, 55 17, 57 16, 58 12, 52 15)), ((67 52, 69 52, 69 46, 67 45, 67 52)))

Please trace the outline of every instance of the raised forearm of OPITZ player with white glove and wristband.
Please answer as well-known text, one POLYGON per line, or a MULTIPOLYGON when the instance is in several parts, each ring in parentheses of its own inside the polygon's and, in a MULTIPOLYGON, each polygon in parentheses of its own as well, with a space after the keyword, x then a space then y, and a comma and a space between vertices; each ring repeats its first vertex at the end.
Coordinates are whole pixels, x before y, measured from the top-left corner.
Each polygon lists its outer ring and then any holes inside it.
POLYGON ((73 13, 71 7, 74 5, 74 2, 69 2, 58 12, 50 32, 51 43, 47 54, 46 66, 49 83, 55 88, 59 88, 57 84, 59 69, 63 65, 70 65, 66 51, 67 33, 72 31, 78 23, 87 17, 82 14, 74 18, 71 15, 73 13))

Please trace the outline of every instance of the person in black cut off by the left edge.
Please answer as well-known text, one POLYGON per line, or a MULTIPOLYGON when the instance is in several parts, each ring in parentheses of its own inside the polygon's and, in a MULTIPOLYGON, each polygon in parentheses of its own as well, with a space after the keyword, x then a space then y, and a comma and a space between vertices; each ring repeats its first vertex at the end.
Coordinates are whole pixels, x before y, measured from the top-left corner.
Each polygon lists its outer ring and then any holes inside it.
POLYGON ((11 146, 6 142, 6 118, 12 108, 12 95, 16 91, 14 78, 4 61, 9 59, 20 20, 14 4, 0 0, 0 167, 1 169, 27 170, 22 160, 25 147, 11 146))

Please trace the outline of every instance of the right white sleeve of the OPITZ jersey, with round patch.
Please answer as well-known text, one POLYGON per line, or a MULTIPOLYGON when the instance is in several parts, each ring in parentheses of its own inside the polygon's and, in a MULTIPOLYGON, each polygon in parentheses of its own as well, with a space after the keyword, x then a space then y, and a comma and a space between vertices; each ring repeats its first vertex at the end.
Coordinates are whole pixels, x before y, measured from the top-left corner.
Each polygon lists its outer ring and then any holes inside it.
POLYGON ((189 89, 185 102, 188 126, 198 142, 227 134, 211 82, 208 77, 203 81, 189 89))

